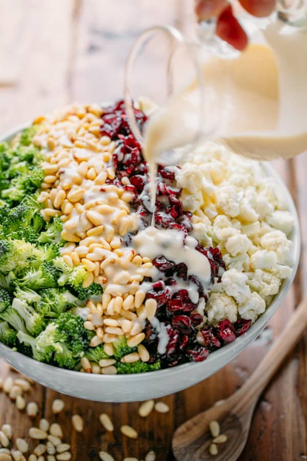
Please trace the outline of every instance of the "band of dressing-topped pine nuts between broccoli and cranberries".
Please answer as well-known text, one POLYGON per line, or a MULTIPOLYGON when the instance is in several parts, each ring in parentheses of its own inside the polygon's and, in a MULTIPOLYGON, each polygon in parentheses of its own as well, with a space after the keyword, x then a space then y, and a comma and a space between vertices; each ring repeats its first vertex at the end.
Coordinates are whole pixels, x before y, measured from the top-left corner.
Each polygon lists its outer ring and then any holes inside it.
MULTIPOLYGON (((40 128, 33 143, 45 156, 45 181, 38 201, 45 220, 58 216, 63 222, 61 237, 68 243, 61 256, 70 267, 83 264, 87 276, 83 287, 92 282, 103 287, 101 302, 89 301, 85 328, 96 332, 93 347, 104 343, 113 355, 112 343, 122 335, 128 344, 138 346, 146 319, 155 316, 157 303, 145 299, 140 284, 152 277, 155 268, 149 258, 122 245, 127 232, 138 228, 138 217, 130 213, 131 193, 115 184, 112 153, 115 142, 100 136, 102 109, 97 106, 69 106, 61 112, 34 121, 40 128)), ((122 178, 123 185, 129 179, 122 178)), ((124 361, 149 360, 145 348, 124 361), (138 356, 138 357, 137 357, 138 356)), ((83 371, 116 373, 113 364, 89 366, 83 371)), ((86 362, 86 363, 85 363, 86 362)))

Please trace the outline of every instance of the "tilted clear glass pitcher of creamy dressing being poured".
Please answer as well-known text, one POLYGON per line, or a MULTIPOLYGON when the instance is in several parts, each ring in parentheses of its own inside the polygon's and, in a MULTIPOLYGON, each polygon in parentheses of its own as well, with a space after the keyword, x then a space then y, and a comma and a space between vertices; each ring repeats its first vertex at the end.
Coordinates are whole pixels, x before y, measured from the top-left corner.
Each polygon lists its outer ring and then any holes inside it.
POLYGON ((170 26, 147 29, 137 38, 127 60, 124 95, 131 130, 147 161, 177 163, 206 139, 262 160, 307 150, 307 7, 304 0, 289 2, 279 2, 261 19, 234 5, 250 40, 243 53, 214 35, 214 21, 199 24, 193 42, 170 26), (147 65, 141 90, 134 74, 140 77, 138 64, 146 64, 148 50, 154 64, 147 65), (132 102, 141 91, 155 102, 145 101, 151 116, 144 133, 132 102))

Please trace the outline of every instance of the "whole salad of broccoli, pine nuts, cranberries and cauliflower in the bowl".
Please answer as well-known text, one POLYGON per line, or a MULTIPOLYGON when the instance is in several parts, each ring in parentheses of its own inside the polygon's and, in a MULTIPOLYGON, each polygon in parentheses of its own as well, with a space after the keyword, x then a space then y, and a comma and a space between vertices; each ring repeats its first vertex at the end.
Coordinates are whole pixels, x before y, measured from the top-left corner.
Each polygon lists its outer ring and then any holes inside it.
POLYGON ((203 362, 293 276, 295 216, 265 167, 209 142, 159 165, 151 203, 123 101, 37 118, 0 144, 0 175, 0 342, 35 361, 203 362))

